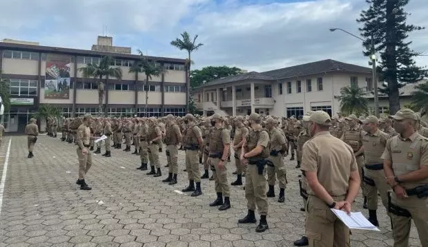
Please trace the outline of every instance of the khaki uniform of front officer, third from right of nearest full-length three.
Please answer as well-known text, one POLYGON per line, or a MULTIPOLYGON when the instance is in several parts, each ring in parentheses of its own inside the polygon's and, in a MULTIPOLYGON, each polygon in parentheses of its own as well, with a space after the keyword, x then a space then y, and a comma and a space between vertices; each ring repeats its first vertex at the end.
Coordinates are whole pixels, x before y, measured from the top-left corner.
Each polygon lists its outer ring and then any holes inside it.
POLYGON ((188 126, 184 133, 184 149, 186 150, 186 171, 188 180, 200 182, 200 169, 199 169, 199 143, 197 138, 202 138, 200 127, 197 125, 188 126))

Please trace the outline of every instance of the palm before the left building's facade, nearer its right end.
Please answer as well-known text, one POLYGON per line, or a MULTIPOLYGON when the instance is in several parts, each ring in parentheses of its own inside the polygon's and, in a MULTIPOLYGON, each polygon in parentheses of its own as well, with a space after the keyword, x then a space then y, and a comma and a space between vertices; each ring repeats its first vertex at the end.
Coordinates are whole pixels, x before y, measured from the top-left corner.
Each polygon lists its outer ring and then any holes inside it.
MULTIPOLYGON (((160 76, 165 73, 163 67, 156 66, 156 61, 148 59, 148 56, 144 56, 141 50, 138 50, 139 61, 129 68, 130 73, 143 72, 146 75, 146 85, 144 90, 146 91, 146 105, 144 106, 144 116, 147 116, 147 105, 148 105, 148 90, 150 87, 150 80, 152 76, 160 76)), ((137 88, 135 88, 137 90, 137 88)))

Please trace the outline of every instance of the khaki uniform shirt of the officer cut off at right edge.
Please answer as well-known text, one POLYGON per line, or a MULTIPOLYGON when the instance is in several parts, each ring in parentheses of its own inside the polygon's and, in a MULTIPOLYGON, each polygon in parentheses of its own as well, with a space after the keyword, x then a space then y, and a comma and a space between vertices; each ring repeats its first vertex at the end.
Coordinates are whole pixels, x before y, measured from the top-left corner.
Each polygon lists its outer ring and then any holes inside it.
MULTIPOLYGON (((391 161, 394 175, 417 171, 422 166, 428 166, 428 138, 418 132, 409 138, 402 138, 401 135, 389 138, 381 158, 391 161)), ((428 184, 428 178, 417 182, 400 182, 400 186, 405 189, 413 189, 423 184, 428 184)))

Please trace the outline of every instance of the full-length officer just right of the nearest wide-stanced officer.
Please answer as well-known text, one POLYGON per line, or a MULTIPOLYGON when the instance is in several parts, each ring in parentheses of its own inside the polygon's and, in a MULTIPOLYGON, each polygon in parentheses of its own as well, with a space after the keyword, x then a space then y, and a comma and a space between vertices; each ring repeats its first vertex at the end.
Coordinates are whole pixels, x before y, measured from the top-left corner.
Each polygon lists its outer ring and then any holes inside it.
POLYGON ((275 174, 280 184, 280 195, 278 202, 285 201, 285 187, 286 187, 286 169, 285 164, 282 162, 282 153, 285 153, 289 149, 289 145, 286 142, 285 136, 281 133, 282 131, 277 128, 278 120, 272 117, 266 118, 266 129, 269 133, 270 145, 269 150, 269 162, 267 167, 269 191, 267 197, 275 197, 275 174))

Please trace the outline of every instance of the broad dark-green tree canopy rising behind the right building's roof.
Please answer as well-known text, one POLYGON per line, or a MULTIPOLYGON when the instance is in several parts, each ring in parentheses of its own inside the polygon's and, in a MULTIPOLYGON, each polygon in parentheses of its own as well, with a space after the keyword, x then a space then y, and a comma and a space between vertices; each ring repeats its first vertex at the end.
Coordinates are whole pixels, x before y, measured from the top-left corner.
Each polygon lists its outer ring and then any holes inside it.
POLYGON ((194 69, 191 71, 191 88, 198 87, 211 80, 223 78, 226 76, 235 76, 241 74, 241 69, 238 67, 227 66, 208 66, 202 69, 194 69))

